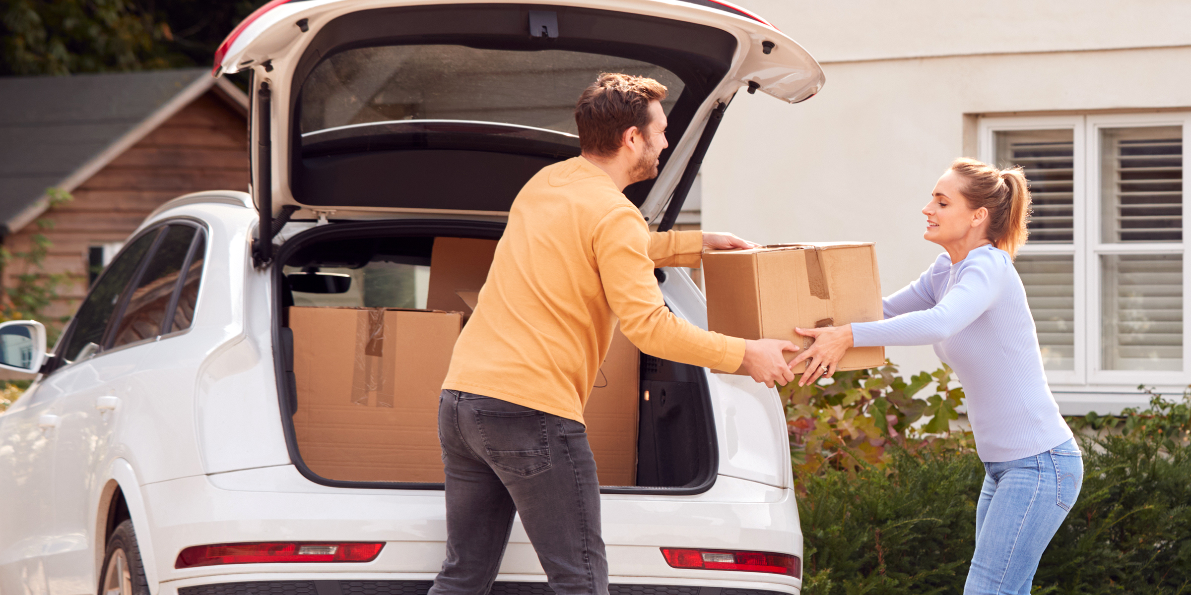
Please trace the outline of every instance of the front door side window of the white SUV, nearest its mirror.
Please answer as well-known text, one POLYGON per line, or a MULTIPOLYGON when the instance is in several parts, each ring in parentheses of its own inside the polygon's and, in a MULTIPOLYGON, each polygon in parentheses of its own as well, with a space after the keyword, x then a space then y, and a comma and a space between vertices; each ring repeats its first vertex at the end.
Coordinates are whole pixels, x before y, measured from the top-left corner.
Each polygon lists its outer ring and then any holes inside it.
POLYGON ((133 240, 100 275, 74 317, 70 338, 60 353, 66 362, 76 362, 100 350, 104 331, 107 330, 107 322, 116 312, 124 288, 132 281, 141 261, 160 233, 160 230, 152 231, 133 240))

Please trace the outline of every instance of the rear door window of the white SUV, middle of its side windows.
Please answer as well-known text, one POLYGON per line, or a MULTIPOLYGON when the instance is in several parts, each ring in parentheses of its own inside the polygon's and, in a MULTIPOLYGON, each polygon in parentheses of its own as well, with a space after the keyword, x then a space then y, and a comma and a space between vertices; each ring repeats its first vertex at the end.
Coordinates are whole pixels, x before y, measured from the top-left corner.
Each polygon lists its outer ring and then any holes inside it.
POLYGON ((191 225, 166 227, 166 234, 149 258, 136 288, 126 298, 127 305, 116 327, 113 347, 162 334, 166 313, 197 232, 198 228, 191 225))

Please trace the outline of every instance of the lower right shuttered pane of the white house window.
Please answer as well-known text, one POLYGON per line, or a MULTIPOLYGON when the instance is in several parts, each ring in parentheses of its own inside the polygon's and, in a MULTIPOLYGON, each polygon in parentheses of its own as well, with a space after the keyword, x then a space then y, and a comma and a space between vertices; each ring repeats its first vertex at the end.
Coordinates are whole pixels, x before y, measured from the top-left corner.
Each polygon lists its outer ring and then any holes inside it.
POLYGON ((1183 255, 1100 257, 1105 370, 1183 369, 1183 255))

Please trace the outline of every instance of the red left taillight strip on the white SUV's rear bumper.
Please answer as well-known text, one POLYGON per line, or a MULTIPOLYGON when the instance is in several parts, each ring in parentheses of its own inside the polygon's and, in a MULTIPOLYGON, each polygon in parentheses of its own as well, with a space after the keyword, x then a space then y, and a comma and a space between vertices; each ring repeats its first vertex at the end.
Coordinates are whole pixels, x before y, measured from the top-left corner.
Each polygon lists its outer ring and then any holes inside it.
POLYGON ((174 568, 275 562, 372 562, 385 544, 289 541, 194 545, 182 550, 174 568))

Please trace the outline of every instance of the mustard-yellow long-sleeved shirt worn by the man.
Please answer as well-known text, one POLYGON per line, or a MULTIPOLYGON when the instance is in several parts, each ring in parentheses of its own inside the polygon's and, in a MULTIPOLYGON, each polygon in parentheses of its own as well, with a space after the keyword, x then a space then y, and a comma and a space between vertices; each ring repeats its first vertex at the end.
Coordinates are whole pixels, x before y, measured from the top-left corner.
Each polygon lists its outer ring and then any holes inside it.
POLYGON ((548 165, 509 212, 444 389, 584 421, 584 406, 621 332, 665 359, 735 371, 744 339, 675 317, 656 267, 698 267, 699 231, 654 233, 601 169, 582 157, 548 165))

